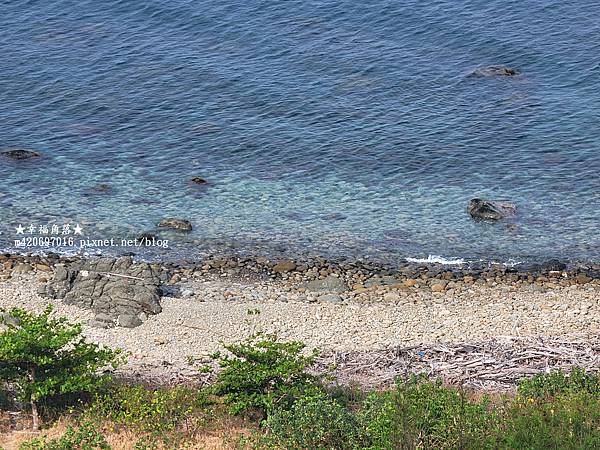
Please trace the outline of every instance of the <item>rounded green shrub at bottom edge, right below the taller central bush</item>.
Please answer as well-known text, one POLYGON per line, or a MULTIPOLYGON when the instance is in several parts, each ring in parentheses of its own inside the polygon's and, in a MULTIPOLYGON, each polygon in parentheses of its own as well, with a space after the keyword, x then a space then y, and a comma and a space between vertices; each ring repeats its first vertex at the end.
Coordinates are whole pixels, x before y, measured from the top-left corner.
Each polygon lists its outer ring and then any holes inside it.
POLYGON ((302 397, 289 409, 276 409, 265 424, 277 448, 363 448, 356 416, 323 392, 302 397))

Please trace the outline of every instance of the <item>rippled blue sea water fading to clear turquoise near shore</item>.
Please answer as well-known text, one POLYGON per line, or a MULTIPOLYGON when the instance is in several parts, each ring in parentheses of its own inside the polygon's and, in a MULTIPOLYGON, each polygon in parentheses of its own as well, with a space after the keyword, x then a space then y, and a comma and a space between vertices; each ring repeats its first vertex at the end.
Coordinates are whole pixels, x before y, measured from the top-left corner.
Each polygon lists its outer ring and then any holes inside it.
POLYGON ((175 258, 597 261, 598 17, 591 0, 0 1, 0 149, 43 153, 0 160, 0 244, 19 224, 120 239, 174 216, 194 225, 160 233, 175 258), (493 64, 522 75, 469 76, 493 64), (473 197, 518 215, 475 222, 473 197))

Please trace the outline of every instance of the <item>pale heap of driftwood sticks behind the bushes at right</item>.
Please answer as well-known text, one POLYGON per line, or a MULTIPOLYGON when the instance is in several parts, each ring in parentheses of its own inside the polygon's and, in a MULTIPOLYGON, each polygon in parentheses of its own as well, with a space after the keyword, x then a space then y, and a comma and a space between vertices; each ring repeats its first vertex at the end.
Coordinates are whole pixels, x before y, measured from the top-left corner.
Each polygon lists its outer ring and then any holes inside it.
POLYGON ((507 392, 520 378, 580 367, 600 371, 600 336, 501 336, 475 344, 436 344, 366 352, 327 352, 317 371, 331 370, 340 384, 383 389, 396 378, 426 374, 480 391, 507 392))

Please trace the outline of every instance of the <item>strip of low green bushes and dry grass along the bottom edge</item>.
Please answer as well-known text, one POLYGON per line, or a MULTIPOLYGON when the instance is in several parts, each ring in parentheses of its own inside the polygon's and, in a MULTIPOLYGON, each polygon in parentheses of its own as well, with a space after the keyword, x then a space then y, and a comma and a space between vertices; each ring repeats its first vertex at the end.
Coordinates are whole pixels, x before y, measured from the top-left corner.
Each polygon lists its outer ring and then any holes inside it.
POLYGON ((398 381, 383 392, 323 387, 274 409, 265 420, 253 408, 232 415, 223 398, 205 390, 114 384, 87 403, 65 405, 58 419, 46 422, 40 436, 3 433, 0 446, 592 449, 600 448, 596 382, 598 376, 579 370, 552 373, 524 380, 516 395, 493 402, 421 377, 398 381))

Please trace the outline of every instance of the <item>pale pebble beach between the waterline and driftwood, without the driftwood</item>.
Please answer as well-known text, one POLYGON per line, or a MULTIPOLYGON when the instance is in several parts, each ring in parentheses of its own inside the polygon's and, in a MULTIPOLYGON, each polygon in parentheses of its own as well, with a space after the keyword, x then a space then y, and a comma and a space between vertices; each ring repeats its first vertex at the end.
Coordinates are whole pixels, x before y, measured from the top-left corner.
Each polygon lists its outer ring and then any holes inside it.
MULTIPOLYGON (((457 269, 432 269, 411 278, 406 268, 352 275, 331 265, 305 269, 294 262, 223 259, 172 268, 173 295, 161 298, 162 312, 135 328, 105 329, 87 325, 89 310, 40 295, 53 264, 62 261, 3 258, 0 308, 39 311, 52 303, 56 314, 83 323, 91 340, 129 355, 121 375, 161 383, 201 378, 198 368, 212 352, 256 332, 300 340, 326 354, 364 355, 503 336, 591 342, 600 331, 600 280, 581 271, 463 273, 458 279, 457 269)), ((595 361, 597 369, 600 355, 595 361)))

